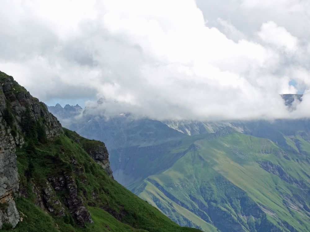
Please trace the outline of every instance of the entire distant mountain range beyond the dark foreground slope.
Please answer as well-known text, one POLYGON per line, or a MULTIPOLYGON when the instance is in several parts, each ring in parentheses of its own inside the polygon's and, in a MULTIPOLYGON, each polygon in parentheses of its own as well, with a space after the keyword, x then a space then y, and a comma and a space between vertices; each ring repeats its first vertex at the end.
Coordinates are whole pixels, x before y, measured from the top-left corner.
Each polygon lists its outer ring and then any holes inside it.
MULTIPOLYGON (((288 107, 301 101, 283 95, 288 107)), ((309 231, 310 120, 158 122, 83 115, 114 177, 179 225, 204 231, 309 231)))

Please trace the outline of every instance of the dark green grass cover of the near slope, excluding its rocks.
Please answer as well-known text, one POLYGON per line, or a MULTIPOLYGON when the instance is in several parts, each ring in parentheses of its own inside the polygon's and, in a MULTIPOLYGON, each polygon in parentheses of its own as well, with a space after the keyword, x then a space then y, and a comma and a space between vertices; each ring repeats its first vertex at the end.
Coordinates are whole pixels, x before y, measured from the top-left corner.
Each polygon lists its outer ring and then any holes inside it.
MULTIPOLYGON (((32 149, 29 152, 25 144, 17 152, 20 191, 24 191, 28 199, 16 198, 17 209, 24 216, 15 231, 198 231, 178 226, 109 178, 81 145, 65 134, 32 149), (73 176, 78 195, 87 203, 94 223, 78 226, 63 204, 60 207, 65 210, 64 217, 46 213, 35 205, 38 195, 34 189, 41 192, 48 178, 59 172, 73 176)), ((66 194, 66 191, 55 192, 55 200, 62 203, 66 194)))

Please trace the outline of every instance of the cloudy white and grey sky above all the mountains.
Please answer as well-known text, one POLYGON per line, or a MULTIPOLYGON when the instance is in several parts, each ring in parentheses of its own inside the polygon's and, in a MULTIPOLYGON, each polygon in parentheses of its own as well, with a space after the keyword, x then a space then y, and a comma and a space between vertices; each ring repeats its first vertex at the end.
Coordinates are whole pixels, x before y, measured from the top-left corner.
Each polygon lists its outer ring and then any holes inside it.
POLYGON ((0 70, 96 113, 309 117, 309 37, 308 0, 0 1, 0 70))

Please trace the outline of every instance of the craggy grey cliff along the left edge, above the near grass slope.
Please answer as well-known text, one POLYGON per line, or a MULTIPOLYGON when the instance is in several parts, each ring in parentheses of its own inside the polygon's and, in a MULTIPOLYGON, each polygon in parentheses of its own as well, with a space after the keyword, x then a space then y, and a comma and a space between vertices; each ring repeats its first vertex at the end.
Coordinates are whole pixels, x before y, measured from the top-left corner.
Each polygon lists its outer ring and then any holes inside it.
POLYGON ((21 88, 12 77, 3 73, 0 79, 0 228, 4 222, 11 223, 13 227, 20 221, 13 195, 19 190, 19 176, 16 165, 16 146, 24 144, 23 138, 17 133, 12 133, 13 127, 19 131, 24 119, 26 109, 34 121, 42 122, 47 138, 59 135, 62 131, 60 122, 47 111, 44 104, 32 97, 25 89, 21 88), (5 76, 5 77, 3 77, 5 76), (8 110, 13 120, 8 125, 5 116, 8 110), (38 120, 38 119, 41 120, 38 120), (13 137, 13 135, 15 137, 13 137))

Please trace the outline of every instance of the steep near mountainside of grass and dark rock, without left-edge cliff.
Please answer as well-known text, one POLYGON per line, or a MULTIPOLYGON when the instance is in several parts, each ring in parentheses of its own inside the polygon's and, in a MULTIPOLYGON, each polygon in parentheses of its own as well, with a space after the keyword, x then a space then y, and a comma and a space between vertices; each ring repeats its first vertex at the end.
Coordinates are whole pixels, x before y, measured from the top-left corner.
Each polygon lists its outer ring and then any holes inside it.
MULTIPOLYGON (((14 195, 20 221, 14 229, 4 223, 2 231, 198 231, 178 226, 109 177, 86 153, 103 143, 76 138, 2 72, 0 84, 0 123, 12 138, 20 178, 14 195)), ((0 208, 7 211, 6 204, 0 208)))

